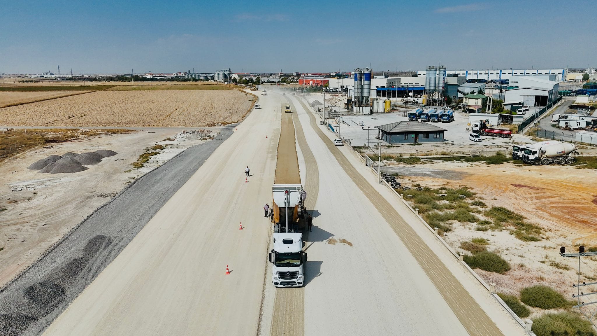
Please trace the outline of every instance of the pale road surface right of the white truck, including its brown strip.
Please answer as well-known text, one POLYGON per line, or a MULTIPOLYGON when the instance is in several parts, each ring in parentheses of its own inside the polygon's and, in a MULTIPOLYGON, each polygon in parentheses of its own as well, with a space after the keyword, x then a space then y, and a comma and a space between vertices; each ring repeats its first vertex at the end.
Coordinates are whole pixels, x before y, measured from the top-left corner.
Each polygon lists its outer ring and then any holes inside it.
MULTIPOLYGON (((407 224, 417 225, 410 210, 367 181, 365 176, 374 176, 350 149, 334 148, 332 133, 324 133, 306 105, 288 99, 319 167, 319 190, 313 232, 307 236, 304 325, 276 333, 273 319, 271 335, 297 335, 293 331, 301 327, 304 335, 522 335, 481 285, 429 239, 429 231, 416 232, 407 224)), ((301 145, 298 135, 297 140, 301 145)), ((266 297, 268 291, 270 286, 266 297)), ((301 311, 288 313, 300 323, 296 315, 301 311)))

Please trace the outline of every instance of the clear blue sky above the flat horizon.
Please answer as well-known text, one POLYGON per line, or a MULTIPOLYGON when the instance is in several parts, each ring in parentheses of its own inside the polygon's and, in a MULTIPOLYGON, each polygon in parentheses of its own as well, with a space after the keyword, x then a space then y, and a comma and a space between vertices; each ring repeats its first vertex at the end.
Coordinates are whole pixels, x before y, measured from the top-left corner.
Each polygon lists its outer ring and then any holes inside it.
POLYGON ((1 4, 7 74, 597 66, 594 1, 1 4))

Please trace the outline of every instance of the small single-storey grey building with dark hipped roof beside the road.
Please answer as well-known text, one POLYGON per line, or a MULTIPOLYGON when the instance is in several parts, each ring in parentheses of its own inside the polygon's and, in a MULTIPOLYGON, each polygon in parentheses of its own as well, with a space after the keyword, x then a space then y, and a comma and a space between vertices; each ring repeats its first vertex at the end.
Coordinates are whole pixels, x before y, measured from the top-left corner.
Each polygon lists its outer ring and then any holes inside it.
POLYGON ((381 140, 388 144, 442 142, 445 129, 421 121, 398 121, 398 123, 376 126, 381 130, 381 140))

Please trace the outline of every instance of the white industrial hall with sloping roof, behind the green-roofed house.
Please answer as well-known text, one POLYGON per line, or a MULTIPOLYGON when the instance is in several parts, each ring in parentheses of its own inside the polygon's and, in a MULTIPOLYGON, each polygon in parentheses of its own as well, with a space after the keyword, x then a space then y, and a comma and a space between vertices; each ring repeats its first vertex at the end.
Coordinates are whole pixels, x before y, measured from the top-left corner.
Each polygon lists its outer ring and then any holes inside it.
POLYGON ((537 76, 513 76, 510 85, 518 88, 506 90, 506 102, 522 102, 528 106, 546 106, 558 99, 559 84, 537 76))

